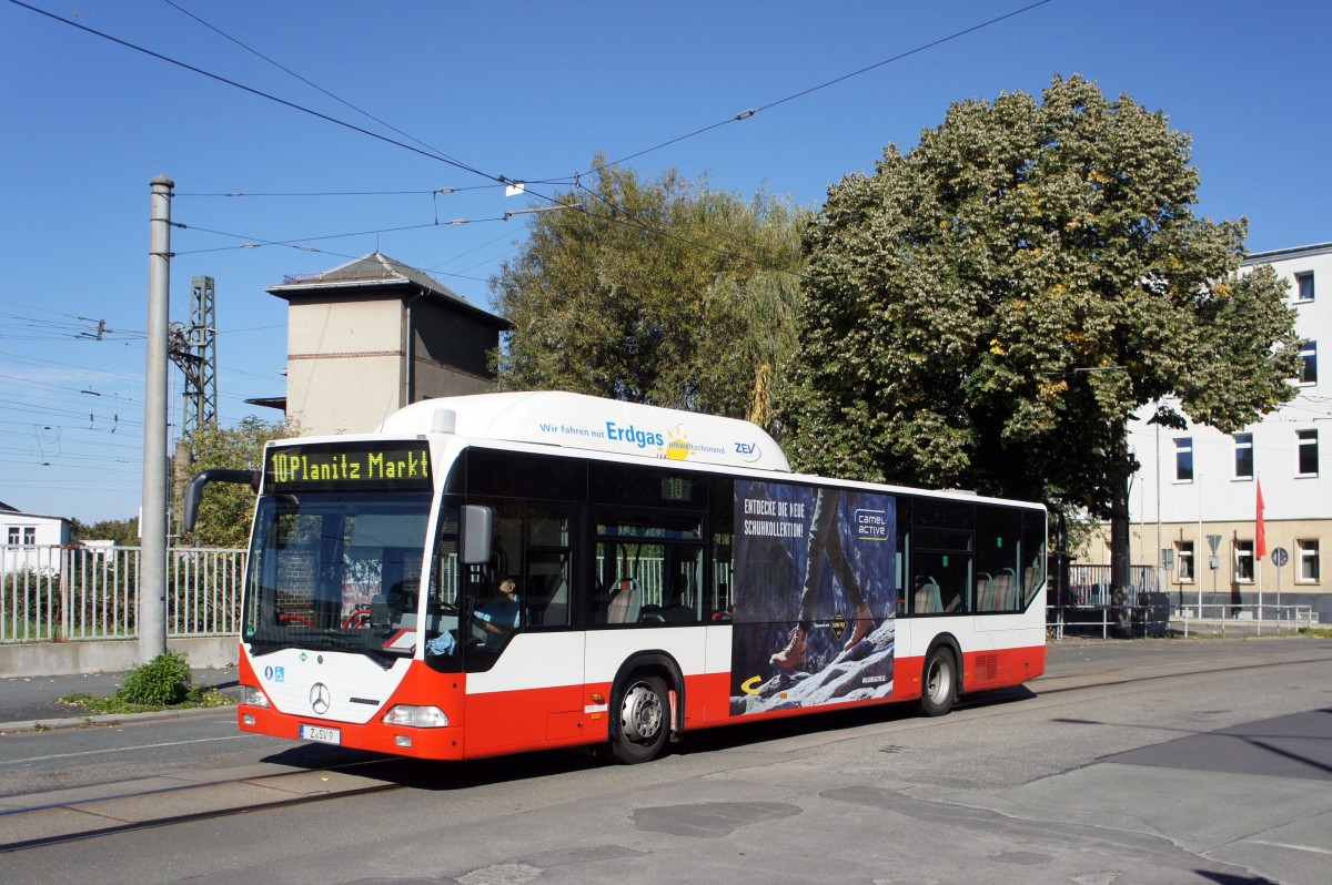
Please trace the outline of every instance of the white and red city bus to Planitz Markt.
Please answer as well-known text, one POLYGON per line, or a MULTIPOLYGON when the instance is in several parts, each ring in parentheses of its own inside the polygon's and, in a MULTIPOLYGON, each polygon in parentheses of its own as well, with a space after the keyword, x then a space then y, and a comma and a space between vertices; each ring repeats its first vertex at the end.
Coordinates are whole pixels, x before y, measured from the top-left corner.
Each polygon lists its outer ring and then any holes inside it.
MULTIPOLYGON (((186 519, 208 482, 196 478, 186 519)), ((462 760, 919 701, 1044 671, 1039 504, 790 471, 729 418, 567 393, 269 443, 244 731, 462 760)))

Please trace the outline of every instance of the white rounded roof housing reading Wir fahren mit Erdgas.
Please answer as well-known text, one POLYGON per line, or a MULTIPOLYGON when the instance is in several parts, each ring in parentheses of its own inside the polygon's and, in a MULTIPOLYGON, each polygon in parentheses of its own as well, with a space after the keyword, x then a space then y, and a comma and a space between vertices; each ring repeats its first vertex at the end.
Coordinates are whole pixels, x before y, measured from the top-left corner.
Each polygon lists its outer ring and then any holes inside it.
POLYGON ((559 391, 424 399, 400 409, 380 433, 422 435, 449 426, 472 439, 561 446, 645 459, 790 472, 781 447, 747 421, 559 391))

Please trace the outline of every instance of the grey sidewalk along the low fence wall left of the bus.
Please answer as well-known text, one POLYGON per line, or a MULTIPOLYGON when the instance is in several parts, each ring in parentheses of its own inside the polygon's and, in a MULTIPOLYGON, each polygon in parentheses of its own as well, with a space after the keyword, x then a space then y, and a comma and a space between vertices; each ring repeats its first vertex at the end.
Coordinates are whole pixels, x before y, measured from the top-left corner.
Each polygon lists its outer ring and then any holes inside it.
MULTIPOLYGON (((194 669, 194 684, 204 688, 236 693, 236 668, 194 669)), ((16 676, 0 679, 0 733, 47 728, 85 725, 92 711, 61 704, 67 695, 112 695, 125 681, 127 673, 85 673, 80 676, 16 676)), ((95 721, 116 721, 128 717, 177 717, 184 713, 216 713, 229 708, 202 708, 198 711, 161 711, 160 713, 113 713, 97 716, 95 721)))

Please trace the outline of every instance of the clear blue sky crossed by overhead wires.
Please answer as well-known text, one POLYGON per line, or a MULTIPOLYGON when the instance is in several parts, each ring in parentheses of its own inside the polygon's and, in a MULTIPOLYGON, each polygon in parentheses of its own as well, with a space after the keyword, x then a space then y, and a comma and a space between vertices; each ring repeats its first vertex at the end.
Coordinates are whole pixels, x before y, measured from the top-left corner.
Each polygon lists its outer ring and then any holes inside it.
MULTIPOLYGON (((1032 0, 25 1, 490 176, 535 181, 773 105, 1032 0)), ((1051 0, 627 165, 818 206, 888 142, 912 146, 951 102, 1039 93, 1055 75, 1082 73, 1192 134, 1199 213, 1248 217, 1251 250, 1325 242, 1329 31, 1332 4, 1316 0, 1051 0)), ((521 216, 496 218, 534 205, 11 0, 0 0, 0 502, 29 512, 93 522, 137 511, 153 176, 176 181, 173 221, 186 225, 172 236, 172 319, 188 319, 192 277, 216 279, 228 425, 276 417, 244 401, 285 393, 285 302, 268 286, 378 248, 489 306, 490 274, 525 236, 521 216), (444 188, 461 190, 432 196, 444 188), (250 196, 209 196, 236 192, 250 196), (305 244, 320 252, 241 248, 312 237, 332 238, 305 244), (97 321, 111 330, 103 341, 85 335, 97 321)), ((180 389, 172 369, 173 422, 180 389)))

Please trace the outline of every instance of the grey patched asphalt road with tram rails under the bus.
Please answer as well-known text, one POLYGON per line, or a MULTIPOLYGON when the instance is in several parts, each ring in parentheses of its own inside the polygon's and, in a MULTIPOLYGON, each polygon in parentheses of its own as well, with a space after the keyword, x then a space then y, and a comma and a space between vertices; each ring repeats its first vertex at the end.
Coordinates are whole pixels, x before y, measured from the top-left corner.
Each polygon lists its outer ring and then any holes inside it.
MULTIPOLYGON (((400 761, 353 769, 381 789, 341 796, 352 775, 320 768, 336 751, 240 737, 229 713, 5 735, 0 805, 57 781, 128 793, 210 777, 213 798, 254 792, 261 772, 328 785, 321 801, 0 854, 0 878, 1323 885, 1329 676, 1328 640, 1066 643, 1030 691, 942 719, 718 729, 631 768, 400 761)), ((145 801, 176 810, 163 796, 145 801)))

